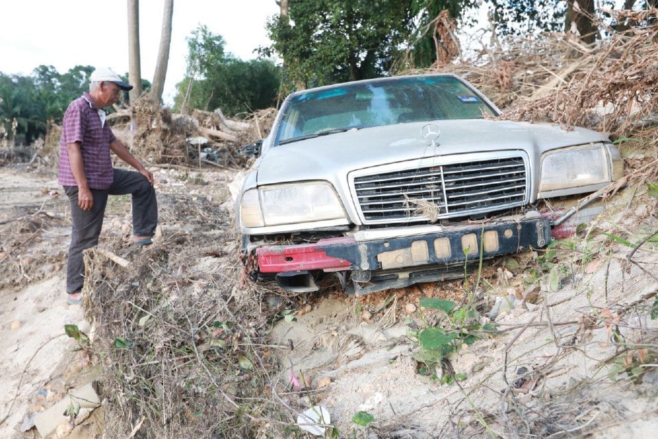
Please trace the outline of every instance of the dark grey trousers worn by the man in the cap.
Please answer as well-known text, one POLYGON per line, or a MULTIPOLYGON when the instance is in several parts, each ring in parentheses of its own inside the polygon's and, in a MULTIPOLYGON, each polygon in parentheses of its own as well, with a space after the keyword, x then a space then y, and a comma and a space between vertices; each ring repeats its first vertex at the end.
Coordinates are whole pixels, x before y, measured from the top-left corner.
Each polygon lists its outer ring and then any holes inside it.
POLYGON ((114 169, 114 181, 109 189, 90 189, 94 204, 90 211, 83 211, 77 204, 77 186, 64 186, 71 202, 71 246, 66 265, 66 293, 80 292, 84 284, 84 260, 82 250, 98 244, 103 227, 108 195, 132 194, 132 233, 134 236, 153 236, 158 225, 156 191, 138 172, 114 169))

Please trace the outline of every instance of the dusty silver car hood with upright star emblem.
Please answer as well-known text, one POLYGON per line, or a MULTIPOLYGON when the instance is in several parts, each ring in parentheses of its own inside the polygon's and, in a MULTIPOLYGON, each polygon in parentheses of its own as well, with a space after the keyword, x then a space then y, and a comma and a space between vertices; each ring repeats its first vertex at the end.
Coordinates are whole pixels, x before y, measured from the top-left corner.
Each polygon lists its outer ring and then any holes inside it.
POLYGON ((354 169, 429 156, 524 150, 528 156, 559 147, 607 141, 600 133, 562 130, 544 123, 465 119, 399 123, 337 132, 267 150, 258 163, 257 184, 332 180, 354 169), (434 132, 422 129, 432 124, 434 132), (432 139, 434 143, 432 143, 432 139))

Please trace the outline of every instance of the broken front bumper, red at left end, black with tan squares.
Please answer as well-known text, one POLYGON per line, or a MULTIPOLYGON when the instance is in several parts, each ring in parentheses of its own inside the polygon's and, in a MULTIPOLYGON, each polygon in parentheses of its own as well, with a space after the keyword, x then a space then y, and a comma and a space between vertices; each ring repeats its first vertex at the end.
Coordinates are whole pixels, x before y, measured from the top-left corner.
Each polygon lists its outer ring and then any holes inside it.
POLYGON ((321 270, 422 269, 453 265, 541 248, 550 242, 550 219, 536 217, 478 225, 381 229, 347 237, 321 239, 315 244, 266 246, 256 249, 258 270, 289 273, 321 270))

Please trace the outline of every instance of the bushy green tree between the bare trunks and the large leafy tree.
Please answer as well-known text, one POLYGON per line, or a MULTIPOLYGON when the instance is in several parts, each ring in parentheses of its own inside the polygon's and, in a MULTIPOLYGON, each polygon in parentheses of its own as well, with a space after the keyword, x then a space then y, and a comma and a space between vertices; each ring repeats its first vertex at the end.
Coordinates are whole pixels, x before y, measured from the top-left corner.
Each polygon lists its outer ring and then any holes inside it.
POLYGON ((226 115, 273 106, 280 67, 271 60, 243 61, 224 52, 224 40, 199 26, 188 38, 186 78, 177 84, 174 110, 215 110, 226 115))

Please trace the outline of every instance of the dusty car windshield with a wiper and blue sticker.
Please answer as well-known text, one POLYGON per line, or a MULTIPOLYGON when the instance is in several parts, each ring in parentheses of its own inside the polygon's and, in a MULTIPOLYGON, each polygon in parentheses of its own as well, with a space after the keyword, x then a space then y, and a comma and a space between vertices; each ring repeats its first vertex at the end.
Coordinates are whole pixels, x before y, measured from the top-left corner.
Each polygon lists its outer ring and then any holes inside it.
POLYGON ((495 115, 452 76, 391 78, 309 91, 292 97, 284 111, 276 145, 351 128, 495 115))

